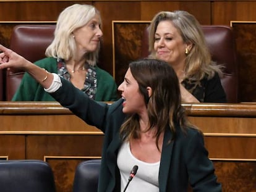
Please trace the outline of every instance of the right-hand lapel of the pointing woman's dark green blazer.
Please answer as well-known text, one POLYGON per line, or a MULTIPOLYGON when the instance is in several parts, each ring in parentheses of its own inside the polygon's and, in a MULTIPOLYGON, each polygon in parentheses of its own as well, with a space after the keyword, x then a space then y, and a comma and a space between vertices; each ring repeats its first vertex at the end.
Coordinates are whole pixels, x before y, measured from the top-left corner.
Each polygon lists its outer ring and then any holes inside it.
POLYGON ((159 170, 159 176, 158 176, 160 192, 166 191, 166 187, 168 183, 169 168, 171 165, 171 156, 173 154, 173 145, 174 145, 174 141, 171 141, 172 136, 173 134, 171 133, 171 130, 167 128, 167 130, 164 133, 160 170, 159 170))

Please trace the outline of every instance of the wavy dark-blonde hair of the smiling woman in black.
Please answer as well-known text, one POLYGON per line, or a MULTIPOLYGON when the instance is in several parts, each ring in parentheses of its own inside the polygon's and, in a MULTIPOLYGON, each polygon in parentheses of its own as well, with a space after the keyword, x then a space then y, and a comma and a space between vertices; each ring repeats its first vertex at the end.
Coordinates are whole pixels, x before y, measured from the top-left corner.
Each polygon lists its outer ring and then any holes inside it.
POLYGON ((175 10, 174 12, 162 11, 155 15, 151 21, 148 34, 150 58, 156 59, 156 52, 154 50, 155 31, 158 24, 163 20, 169 20, 173 23, 184 43, 193 44, 185 61, 184 72, 186 78, 199 81, 205 75, 208 78, 212 78, 215 72, 220 76, 223 75, 221 71, 223 66, 216 65, 215 62, 211 61, 211 54, 200 23, 195 19, 194 15, 184 10, 175 10))

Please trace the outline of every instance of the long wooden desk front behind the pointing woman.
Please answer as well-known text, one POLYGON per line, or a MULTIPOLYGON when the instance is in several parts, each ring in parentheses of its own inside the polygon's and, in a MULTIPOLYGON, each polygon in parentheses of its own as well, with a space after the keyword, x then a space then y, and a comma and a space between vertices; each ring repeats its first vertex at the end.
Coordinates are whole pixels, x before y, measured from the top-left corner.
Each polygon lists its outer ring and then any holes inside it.
MULTIPOLYGON (((205 135, 223 191, 256 191, 256 104, 184 104, 205 135)), ((0 102, 0 159, 41 159, 58 192, 72 191, 75 167, 100 158, 103 133, 57 102, 0 102)))

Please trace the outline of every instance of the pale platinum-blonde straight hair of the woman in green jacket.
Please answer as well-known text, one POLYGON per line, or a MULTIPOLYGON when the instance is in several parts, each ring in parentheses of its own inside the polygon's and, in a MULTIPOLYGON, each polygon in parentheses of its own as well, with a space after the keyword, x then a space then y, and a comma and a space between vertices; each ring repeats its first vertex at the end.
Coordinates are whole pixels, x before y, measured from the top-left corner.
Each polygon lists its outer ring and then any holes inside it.
MULTIPOLYGON (((86 25, 96 14, 100 16, 95 7, 86 4, 74 4, 62 10, 54 31, 54 40, 45 51, 46 56, 60 57, 66 61, 74 56, 76 44, 72 32, 86 25)), ((88 64, 96 65, 99 51, 100 44, 96 51, 85 54, 88 64)))

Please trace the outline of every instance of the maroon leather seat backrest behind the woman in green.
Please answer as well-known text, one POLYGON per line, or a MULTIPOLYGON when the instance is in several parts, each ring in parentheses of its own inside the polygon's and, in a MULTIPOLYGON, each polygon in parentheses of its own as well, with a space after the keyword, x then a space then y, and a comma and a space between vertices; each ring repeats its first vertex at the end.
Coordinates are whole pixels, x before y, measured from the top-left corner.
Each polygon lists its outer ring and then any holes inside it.
MULTIPOLYGON (((43 59, 45 50, 54 38, 56 25, 17 25, 11 35, 10 49, 35 62, 43 59)), ((6 100, 11 101, 23 77, 21 70, 6 72, 6 100)))

